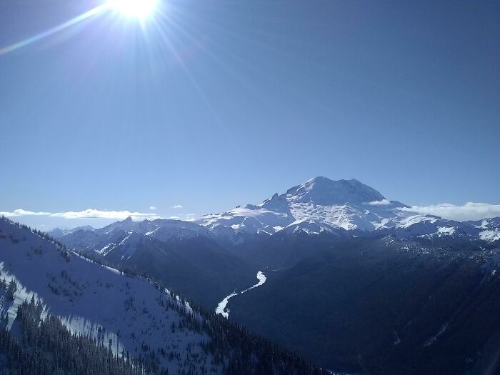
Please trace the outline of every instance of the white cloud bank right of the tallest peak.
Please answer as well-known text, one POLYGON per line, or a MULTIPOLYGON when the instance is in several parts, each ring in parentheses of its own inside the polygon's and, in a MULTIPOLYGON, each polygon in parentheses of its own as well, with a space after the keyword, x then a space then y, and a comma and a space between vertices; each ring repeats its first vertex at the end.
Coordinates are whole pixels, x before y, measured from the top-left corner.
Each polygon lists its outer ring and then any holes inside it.
POLYGON ((431 206, 403 207, 402 211, 418 212, 440 216, 443 219, 456 221, 480 220, 500 216, 500 204, 467 202, 462 206, 444 203, 431 206))

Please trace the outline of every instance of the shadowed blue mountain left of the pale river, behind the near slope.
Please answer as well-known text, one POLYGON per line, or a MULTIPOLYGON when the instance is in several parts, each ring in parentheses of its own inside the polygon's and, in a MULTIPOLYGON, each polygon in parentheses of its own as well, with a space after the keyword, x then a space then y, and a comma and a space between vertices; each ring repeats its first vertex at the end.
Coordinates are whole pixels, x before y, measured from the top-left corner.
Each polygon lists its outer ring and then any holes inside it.
POLYGON ((251 284, 258 271, 189 221, 127 218, 100 229, 74 230, 59 240, 87 256, 144 272, 210 309, 251 284))

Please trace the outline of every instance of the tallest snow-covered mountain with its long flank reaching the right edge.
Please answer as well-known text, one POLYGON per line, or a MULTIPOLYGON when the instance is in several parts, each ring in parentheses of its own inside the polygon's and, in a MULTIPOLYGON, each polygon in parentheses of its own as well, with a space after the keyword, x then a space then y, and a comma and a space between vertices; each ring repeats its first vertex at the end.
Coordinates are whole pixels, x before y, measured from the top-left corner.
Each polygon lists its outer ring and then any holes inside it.
POLYGON ((311 236, 470 236, 484 241, 496 241, 498 234, 484 231, 480 236, 479 227, 471 223, 412 212, 409 206, 389 201, 356 179, 334 181, 326 177, 310 179, 261 204, 201 216, 196 223, 209 229, 219 241, 233 245, 299 231, 311 236))

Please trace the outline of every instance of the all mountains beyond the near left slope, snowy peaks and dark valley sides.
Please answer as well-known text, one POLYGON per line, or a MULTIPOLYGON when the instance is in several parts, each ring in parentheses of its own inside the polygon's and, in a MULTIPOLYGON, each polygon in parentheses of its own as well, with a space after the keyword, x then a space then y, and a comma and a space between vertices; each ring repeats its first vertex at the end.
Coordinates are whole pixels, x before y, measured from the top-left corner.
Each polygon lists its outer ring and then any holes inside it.
POLYGON ((128 218, 51 235, 332 371, 500 369, 500 218, 420 214, 355 179, 316 177, 191 221, 128 218))

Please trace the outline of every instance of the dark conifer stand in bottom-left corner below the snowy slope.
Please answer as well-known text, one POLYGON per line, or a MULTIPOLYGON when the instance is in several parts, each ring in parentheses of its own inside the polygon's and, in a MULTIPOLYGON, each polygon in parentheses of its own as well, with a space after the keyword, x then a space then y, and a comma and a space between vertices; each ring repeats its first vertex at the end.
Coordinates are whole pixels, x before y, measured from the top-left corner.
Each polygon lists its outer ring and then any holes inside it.
MULTIPOLYGON (((34 298, 17 309, 16 329, 0 330, 1 374, 5 375, 140 375, 144 367, 129 357, 114 356, 96 339, 70 333, 56 316, 41 319, 34 298), (17 329, 19 327, 19 329, 17 329), (15 331, 15 334, 13 333, 15 331)), ((166 374, 166 373, 164 373, 166 374)))

